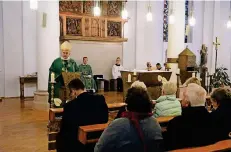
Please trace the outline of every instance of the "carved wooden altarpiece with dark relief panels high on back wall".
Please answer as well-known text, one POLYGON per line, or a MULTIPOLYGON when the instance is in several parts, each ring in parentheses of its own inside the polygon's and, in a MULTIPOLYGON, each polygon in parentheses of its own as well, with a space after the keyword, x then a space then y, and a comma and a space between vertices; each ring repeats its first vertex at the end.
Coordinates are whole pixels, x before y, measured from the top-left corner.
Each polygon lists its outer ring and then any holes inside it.
POLYGON ((100 1, 101 16, 93 15, 94 1, 60 1, 61 40, 124 42, 123 1, 100 1))

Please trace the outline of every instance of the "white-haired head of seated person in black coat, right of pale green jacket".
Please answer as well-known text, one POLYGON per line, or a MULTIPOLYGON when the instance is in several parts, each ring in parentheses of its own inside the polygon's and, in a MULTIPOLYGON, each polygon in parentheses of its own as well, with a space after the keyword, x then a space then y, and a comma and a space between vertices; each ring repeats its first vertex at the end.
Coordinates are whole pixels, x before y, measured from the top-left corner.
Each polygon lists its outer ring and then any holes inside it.
POLYGON ((190 83, 184 92, 184 100, 188 101, 191 107, 205 106, 206 91, 198 84, 190 83))

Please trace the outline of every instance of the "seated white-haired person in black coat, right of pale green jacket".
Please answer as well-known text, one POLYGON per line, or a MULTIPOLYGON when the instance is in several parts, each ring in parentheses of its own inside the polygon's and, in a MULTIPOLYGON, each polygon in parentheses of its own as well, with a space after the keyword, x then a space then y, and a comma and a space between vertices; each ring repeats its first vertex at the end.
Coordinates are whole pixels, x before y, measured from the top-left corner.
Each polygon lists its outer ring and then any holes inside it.
POLYGON ((182 102, 188 105, 168 123, 166 147, 168 150, 212 144, 211 121, 205 108, 206 91, 197 84, 189 84, 182 102))

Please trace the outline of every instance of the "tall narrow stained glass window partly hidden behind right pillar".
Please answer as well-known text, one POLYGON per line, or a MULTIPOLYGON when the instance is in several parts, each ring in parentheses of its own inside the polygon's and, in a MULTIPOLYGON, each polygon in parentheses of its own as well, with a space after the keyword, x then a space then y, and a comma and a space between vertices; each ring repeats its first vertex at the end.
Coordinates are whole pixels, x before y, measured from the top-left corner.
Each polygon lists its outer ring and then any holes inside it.
MULTIPOLYGON (((169 0, 164 0, 164 21, 163 21, 163 41, 168 42, 168 6, 169 0)), ((186 27, 188 25, 188 16, 189 16, 189 1, 185 1, 185 33, 186 27)), ((185 43, 188 42, 188 36, 185 34, 185 43)))

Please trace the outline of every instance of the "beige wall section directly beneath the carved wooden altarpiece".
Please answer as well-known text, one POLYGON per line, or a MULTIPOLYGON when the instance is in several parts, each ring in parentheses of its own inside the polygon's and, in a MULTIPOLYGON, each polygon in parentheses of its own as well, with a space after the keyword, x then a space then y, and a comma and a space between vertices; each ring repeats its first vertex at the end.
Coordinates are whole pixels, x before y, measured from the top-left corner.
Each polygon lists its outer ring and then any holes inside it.
POLYGON ((121 43, 71 41, 71 44, 71 57, 78 65, 82 64, 83 57, 87 56, 94 75, 103 74, 106 79, 112 78, 111 68, 117 57, 122 58, 121 43))

